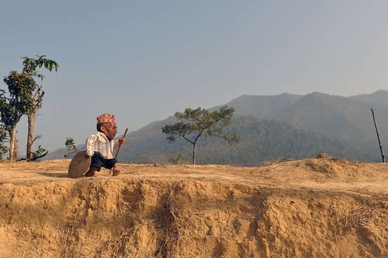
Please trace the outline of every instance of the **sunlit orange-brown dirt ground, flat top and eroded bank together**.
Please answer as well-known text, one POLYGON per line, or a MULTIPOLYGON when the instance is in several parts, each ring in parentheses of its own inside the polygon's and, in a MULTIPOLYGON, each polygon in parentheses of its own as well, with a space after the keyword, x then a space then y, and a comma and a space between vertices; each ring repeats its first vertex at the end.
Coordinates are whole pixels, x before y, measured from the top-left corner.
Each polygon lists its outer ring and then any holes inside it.
POLYGON ((0 257, 388 257, 388 164, 0 163, 0 257))

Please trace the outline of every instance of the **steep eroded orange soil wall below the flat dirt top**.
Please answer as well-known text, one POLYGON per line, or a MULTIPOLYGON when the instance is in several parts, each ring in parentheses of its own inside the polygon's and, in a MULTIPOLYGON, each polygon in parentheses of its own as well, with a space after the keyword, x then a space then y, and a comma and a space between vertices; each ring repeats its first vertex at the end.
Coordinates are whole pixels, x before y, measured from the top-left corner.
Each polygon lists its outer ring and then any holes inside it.
POLYGON ((0 257, 388 257, 387 202, 201 180, 0 185, 0 257))

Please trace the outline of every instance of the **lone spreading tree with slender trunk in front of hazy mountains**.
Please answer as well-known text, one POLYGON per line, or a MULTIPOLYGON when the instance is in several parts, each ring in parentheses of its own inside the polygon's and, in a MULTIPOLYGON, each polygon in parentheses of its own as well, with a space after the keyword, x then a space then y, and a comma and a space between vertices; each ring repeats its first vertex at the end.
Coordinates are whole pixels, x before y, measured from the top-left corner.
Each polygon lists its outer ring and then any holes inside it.
POLYGON ((196 143, 201 136, 216 136, 223 138, 229 144, 238 142, 241 137, 232 132, 225 132, 224 129, 231 121, 234 108, 222 106, 215 111, 209 111, 205 108, 186 108, 184 113, 175 113, 179 122, 167 124, 162 128, 163 134, 167 135, 170 143, 175 142, 177 138, 184 138, 193 145, 192 164, 195 164, 196 143))

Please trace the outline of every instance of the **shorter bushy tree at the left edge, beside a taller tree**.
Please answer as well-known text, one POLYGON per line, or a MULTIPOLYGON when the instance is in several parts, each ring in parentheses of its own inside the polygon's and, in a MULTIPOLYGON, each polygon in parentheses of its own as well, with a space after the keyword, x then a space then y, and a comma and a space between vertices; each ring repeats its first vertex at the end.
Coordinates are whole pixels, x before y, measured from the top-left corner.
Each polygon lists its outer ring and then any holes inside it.
POLYGON ((0 90, 0 115, 4 129, 9 134, 9 159, 15 161, 17 159, 15 154, 18 153, 16 148, 16 126, 22 115, 27 114, 28 97, 34 91, 36 83, 31 76, 17 71, 11 71, 8 76, 4 77, 4 83, 8 86, 8 96, 6 91, 0 90))

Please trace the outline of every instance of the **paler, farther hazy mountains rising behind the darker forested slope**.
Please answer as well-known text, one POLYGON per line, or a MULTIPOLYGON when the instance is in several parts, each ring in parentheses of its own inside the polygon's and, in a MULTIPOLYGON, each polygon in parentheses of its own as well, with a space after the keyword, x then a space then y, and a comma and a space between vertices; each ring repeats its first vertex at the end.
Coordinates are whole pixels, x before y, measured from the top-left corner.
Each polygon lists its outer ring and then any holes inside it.
MULTIPOLYGON (((384 147, 388 144, 388 105, 380 103, 383 102, 382 99, 385 96, 388 98, 387 94, 387 91, 380 90, 370 95, 360 95, 363 101, 357 99, 358 96, 332 96, 319 92, 305 96, 286 94, 286 98, 289 97, 287 106, 281 103, 277 108, 272 108, 273 112, 257 112, 255 117, 262 118, 262 114, 267 114, 265 118, 279 120, 312 133, 347 141, 349 144, 359 146, 365 152, 370 153, 373 160, 378 160, 380 152, 370 107, 373 105, 375 108, 377 125, 384 147), (379 94, 382 94, 382 97, 379 94), (373 102, 374 100, 376 103, 373 102)), ((252 96, 251 99, 254 97, 252 96)), ((253 115, 251 111, 253 106, 259 108, 261 105, 263 110, 266 110, 269 107, 267 104, 269 101, 272 101, 273 106, 276 106, 281 102, 279 99, 284 99, 284 94, 279 95, 279 98, 257 96, 257 99, 260 99, 261 104, 253 104, 248 101, 247 105, 243 106, 241 102, 239 105, 235 105, 234 101, 231 101, 227 105, 234 106, 236 113, 253 115)))

